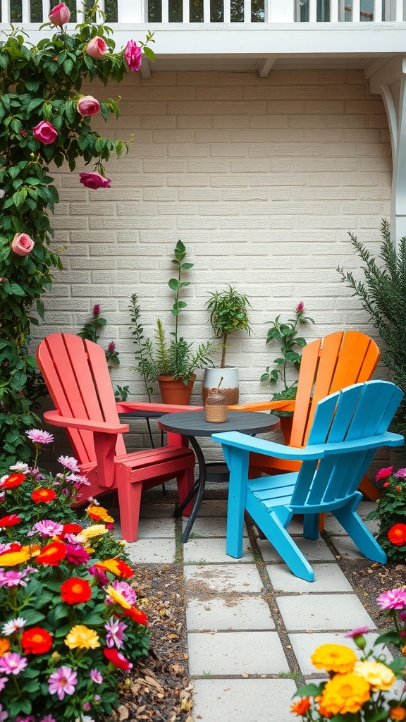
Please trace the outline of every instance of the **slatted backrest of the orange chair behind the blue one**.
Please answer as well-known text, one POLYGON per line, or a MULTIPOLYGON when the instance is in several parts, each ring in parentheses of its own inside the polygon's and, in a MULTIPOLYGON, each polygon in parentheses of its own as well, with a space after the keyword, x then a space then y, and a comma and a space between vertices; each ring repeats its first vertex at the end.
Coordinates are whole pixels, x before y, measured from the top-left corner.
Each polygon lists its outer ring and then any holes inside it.
POLYGON ((290 446, 305 446, 320 399, 371 378, 380 351, 360 331, 338 331, 304 347, 290 446))

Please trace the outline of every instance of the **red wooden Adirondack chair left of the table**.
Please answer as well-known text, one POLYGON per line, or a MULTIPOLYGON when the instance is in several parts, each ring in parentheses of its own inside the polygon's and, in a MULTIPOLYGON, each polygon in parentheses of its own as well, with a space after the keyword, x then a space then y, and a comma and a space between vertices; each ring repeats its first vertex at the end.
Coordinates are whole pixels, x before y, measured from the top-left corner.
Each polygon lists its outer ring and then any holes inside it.
MULTIPOLYGON (((182 503, 194 484, 195 457, 178 434, 168 434, 168 446, 126 453, 123 434, 129 425, 120 422, 118 412, 147 409, 165 414, 190 411, 191 407, 116 404, 103 349, 73 334, 51 334, 43 339, 37 361, 56 406, 44 413, 44 419, 65 428, 80 469, 90 482, 80 489, 81 501, 117 490, 123 538, 137 541, 142 491, 176 477, 182 503)), ((186 516, 190 513, 191 504, 183 511, 186 516)))

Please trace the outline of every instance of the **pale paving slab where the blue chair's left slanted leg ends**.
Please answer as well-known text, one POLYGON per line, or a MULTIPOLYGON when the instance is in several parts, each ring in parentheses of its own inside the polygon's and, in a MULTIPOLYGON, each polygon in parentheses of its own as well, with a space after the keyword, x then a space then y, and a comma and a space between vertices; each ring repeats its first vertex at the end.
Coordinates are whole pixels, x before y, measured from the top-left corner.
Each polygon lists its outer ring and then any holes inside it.
POLYGON ((313 564, 312 567, 314 582, 296 577, 285 564, 268 565, 267 573, 273 588, 277 591, 291 591, 297 594, 353 591, 353 587, 337 564, 313 564))

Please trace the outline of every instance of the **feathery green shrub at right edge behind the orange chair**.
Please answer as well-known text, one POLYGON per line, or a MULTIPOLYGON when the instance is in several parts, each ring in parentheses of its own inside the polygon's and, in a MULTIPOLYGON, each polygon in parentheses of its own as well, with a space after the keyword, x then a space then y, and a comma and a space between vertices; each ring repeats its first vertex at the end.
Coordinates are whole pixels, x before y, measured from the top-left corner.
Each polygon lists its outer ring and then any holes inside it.
MULTIPOLYGON (((390 236, 387 220, 381 224, 379 260, 373 258, 353 233, 348 234, 362 262, 364 280, 355 279, 351 271, 337 268, 341 280, 358 296, 370 316, 384 345, 382 361, 392 373, 394 383, 406 393, 406 238, 399 240, 398 249, 390 236), (379 262, 381 261, 381 262, 379 262)), ((406 401, 402 400, 394 417, 393 429, 406 437, 406 401)), ((406 459, 406 450, 400 450, 406 459)))

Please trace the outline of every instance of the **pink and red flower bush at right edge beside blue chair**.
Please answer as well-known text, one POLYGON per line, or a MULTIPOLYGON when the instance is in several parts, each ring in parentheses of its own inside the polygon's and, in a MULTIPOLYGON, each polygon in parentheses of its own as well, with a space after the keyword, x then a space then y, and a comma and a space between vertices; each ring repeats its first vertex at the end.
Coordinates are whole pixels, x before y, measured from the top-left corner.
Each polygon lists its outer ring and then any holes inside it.
POLYGON ((377 540, 389 560, 406 561, 406 469, 380 469, 376 481, 383 482, 381 496, 368 519, 379 521, 377 540))

